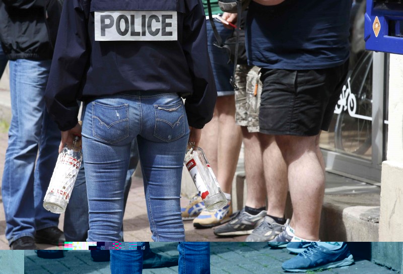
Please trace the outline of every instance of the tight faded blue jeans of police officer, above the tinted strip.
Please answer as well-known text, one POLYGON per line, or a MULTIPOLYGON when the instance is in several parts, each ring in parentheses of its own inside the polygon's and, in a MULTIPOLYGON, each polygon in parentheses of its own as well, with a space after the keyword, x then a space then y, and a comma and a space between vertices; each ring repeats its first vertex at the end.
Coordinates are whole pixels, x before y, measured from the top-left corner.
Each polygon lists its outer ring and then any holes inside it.
POLYGON ((189 136, 176 94, 132 92, 87 105, 83 155, 89 205, 88 241, 118 241, 130 145, 137 138, 154 241, 184 241, 180 182, 189 136))

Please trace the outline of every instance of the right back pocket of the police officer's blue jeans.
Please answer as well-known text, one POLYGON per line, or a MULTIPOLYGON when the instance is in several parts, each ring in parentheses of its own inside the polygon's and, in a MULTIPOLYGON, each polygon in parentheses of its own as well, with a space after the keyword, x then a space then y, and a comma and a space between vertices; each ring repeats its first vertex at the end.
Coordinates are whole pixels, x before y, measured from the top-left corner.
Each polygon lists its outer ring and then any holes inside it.
POLYGON ((154 136, 165 142, 172 142, 185 134, 185 113, 182 100, 171 105, 154 105, 154 136))

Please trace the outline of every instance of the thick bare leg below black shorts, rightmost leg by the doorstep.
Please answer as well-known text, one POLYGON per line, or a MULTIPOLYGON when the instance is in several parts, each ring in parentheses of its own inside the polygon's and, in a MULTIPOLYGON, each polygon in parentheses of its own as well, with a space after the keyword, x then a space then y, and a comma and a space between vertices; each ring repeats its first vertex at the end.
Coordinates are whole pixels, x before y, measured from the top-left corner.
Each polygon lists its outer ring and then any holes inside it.
POLYGON ((297 237, 319 239, 324 195, 324 172, 318 157, 318 136, 278 135, 276 142, 288 166, 288 180, 297 237))

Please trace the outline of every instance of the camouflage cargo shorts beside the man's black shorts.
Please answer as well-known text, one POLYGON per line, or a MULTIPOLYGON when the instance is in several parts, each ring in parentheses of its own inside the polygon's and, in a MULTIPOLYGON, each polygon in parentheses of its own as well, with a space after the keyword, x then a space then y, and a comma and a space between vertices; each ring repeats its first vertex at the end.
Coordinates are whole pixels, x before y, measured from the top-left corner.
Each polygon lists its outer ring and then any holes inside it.
POLYGON ((259 106, 262 83, 260 68, 238 64, 235 72, 235 121, 240 126, 247 126, 249 132, 259 132, 259 106))

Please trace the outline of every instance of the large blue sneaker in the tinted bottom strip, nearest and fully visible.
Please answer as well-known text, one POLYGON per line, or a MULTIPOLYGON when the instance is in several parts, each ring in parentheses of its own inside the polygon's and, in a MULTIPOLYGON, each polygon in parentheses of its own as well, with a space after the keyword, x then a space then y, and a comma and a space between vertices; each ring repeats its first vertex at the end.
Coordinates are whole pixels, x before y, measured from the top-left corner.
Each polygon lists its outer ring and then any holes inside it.
POLYGON ((342 267, 353 263, 353 255, 346 243, 343 243, 338 250, 329 250, 319 246, 316 242, 311 242, 305 251, 285 261, 281 267, 288 272, 306 272, 342 267))

